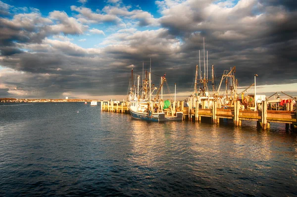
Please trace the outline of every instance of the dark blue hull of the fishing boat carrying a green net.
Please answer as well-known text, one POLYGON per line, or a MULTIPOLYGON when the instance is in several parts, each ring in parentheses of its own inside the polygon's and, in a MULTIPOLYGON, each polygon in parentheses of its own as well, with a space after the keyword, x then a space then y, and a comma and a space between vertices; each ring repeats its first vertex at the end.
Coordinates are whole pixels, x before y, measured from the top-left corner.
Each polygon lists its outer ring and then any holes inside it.
POLYGON ((146 120, 146 121, 152 121, 152 122, 165 122, 165 121, 182 121, 183 120, 183 112, 177 112, 176 116, 165 116, 165 113, 152 113, 152 115, 149 117, 148 113, 146 112, 138 112, 132 110, 130 107, 129 112, 134 119, 139 120, 146 120))

